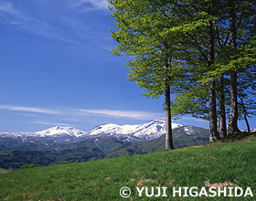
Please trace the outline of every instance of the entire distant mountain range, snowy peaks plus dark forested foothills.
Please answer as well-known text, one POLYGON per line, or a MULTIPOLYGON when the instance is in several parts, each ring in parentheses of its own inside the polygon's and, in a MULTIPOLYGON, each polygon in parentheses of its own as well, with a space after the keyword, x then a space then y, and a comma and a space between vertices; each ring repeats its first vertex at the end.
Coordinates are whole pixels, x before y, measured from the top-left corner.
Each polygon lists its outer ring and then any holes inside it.
MULTIPOLYGON (((208 130, 173 124, 176 148, 208 143, 208 130)), ((90 132, 55 126, 40 132, 0 133, 0 167, 45 166, 165 150, 165 122, 104 124, 90 132)))

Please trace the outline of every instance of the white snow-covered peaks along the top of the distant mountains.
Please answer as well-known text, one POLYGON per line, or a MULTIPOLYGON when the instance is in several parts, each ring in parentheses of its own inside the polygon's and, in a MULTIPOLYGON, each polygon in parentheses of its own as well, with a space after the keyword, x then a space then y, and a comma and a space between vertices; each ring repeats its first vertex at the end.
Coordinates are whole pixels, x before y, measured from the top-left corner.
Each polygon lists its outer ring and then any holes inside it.
MULTIPOLYGON (((182 126, 181 124, 173 123, 172 128, 182 126)), ((91 138, 96 136, 130 136, 142 140, 155 139, 165 134, 165 121, 154 120, 144 124, 136 125, 117 125, 104 124, 100 125, 89 132, 83 132, 72 127, 55 126, 40 132, 20 132, 20 133, 0 133, 0 137, 40 137, 40 138, 91 138)))

